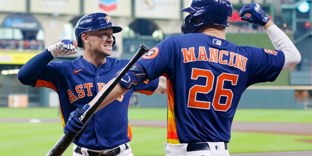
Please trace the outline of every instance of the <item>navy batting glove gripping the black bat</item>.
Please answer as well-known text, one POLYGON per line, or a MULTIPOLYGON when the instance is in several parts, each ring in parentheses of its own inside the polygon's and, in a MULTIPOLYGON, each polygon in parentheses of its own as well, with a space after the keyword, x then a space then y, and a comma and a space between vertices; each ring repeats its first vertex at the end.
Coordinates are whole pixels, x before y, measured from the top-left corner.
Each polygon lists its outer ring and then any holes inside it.
POLYGON ((83 108, 77 108, 69 115, 68 121, 63 129, 65 135, 77 134, 83 126, 82 121, 79 119, 90 106, 86 104, 83 108))

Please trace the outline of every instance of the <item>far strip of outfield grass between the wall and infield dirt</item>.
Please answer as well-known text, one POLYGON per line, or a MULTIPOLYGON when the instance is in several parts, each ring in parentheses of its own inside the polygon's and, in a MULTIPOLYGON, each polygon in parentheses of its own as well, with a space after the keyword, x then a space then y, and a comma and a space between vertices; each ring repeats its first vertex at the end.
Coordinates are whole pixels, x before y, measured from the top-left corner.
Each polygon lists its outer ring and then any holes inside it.
MULTIPOLYGON (((129 119, 166 120, 166 108, 129 108, 129 119)), ((0 118, 59 118, 58 108, 0 108, 0 118)), ((238 109, 234 121, 312 123, 311 110, 238 109)))

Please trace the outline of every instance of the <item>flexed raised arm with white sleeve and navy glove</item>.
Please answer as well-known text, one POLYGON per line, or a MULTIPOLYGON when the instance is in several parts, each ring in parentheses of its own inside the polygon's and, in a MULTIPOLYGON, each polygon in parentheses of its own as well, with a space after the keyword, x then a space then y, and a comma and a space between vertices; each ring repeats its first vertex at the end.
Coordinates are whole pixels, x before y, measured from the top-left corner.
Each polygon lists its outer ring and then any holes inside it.
POLYGON ((291 68, 300 62, 301 55, 292 43, 292 40, 270 20, 259 4, 246 4, 240 10, 239 16, 241 20, 262 25, 271 39, 274 48, 283 51, 285 54, 285 63, 282 70, 291 68), (245 14, 251 14, 251 16, 248 17, 245 14))

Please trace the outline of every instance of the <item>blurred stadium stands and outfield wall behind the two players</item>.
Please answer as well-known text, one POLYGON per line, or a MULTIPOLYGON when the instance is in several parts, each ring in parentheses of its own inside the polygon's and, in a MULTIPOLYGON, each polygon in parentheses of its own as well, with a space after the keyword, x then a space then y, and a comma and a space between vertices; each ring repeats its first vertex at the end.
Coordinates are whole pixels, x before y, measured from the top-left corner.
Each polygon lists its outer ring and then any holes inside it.
MULTIPOLYGON (((275 82, 249 87, 239 108, 308 109, 312 105, 312 11, 310 0, 231 0, 234 8, 227 39, 239 45, 274 49, 262 27, 240 21, 238 12, 246 3, 259 3, 285 31, 302 55, 293 69, 283 71, 275 82), (307 4, 307 5, 304 5, 307 4), (303 12, 303 13, 301 13, 303 12)), ((131 59, 143 43, 149 48, 170 35, 181 34, 180 26, 189 0, 1 0, 0 2, 0 106, 58 107, 51 89, 22 85, 16 73, 30 58, 61 39, 75 42, 78 19, 92 12, 108 13, 123 31, 115 34, 112 57, 131 59)), ((57 57, 53 61, 72 60, 57 57)), ((166 107, 166 97, 134 94, 133 107, 166 107)))

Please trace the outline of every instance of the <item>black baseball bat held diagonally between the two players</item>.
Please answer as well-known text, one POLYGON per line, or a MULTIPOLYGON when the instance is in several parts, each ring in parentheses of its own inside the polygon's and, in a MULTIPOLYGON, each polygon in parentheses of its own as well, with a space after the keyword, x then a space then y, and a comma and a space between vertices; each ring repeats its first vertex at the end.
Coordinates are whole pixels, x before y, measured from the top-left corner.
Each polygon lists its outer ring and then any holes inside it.
MULTIPOLYGON (((137 60, 143 56, 149 49, 146 45, 140 44, 140 48, 138 49, 135 56, 129 61, 129 63, 123 68, 123 70, 119 73, 116 79, 107 87, 107 89, 103 92, 103 94, 89 107, 89 109, 79 118, 84 126, 88 123, 92 115, 97 110, 98 106, 101 102, 107 97, 107 95, 115 88, 121 78, 130 70, 130 68, 137 62, 137 60)), ((90 103, 89 103, 90 104, 90 103)), ((82 130, 81 129, 81 130, 82 130)), ((68 146, 74 141, 75 137, 81 132, 81 130, 77 134, 63 135, 59 141, 52 147, 52 149, 48 152, 46 156, 61 156, 68 146)))

